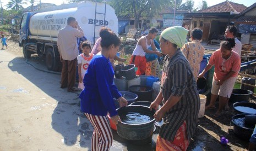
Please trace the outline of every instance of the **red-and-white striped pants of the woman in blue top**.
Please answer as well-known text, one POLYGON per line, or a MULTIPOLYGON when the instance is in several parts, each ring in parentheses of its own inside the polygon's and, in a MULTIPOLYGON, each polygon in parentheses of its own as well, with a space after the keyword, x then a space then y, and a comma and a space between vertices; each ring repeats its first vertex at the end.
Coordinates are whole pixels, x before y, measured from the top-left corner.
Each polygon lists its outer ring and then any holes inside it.
POLYGON ((110 150, 113 142, 113 134, 107 116, 84 114, 94 126, 94 132, 91 138, 91 150, 110 150))

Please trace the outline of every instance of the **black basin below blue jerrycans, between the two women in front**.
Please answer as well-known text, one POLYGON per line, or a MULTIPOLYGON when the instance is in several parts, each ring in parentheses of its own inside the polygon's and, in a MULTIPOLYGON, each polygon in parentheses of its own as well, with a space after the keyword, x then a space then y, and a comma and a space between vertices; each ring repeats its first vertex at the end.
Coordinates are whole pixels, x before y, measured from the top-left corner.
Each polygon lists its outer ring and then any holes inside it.
POLYGON ((133 85, 129 87, 129 91, 138 95, 137 101, 152 101, 152 91, 150 86, 133 85))

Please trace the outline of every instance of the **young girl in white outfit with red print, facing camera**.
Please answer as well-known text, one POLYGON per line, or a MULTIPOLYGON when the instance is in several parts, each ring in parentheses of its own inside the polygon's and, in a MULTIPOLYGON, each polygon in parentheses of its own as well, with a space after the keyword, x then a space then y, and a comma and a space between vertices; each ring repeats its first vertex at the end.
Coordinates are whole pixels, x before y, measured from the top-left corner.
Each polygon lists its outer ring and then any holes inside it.
POLYGON ((78 75, 79 75, 78 88, 83 90, 84 89, 84 83, 83 83, 84 74, 85 74, 86 70, 88 69, 90 61, 94 55, 90 54, 91 45, 89 42, 83 42, 81 44, 81 48, 82 48, 83 53, 77 56, 78 75))

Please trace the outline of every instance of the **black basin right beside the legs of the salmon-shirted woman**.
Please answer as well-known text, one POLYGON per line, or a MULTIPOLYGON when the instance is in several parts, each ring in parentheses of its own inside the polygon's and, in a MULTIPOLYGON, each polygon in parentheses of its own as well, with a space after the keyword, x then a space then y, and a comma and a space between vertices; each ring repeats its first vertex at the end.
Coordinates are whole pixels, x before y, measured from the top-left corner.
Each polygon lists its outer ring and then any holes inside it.
POLYGON ((253 92, 246 89, 233 89, 230 102, 248 102, 253 92))

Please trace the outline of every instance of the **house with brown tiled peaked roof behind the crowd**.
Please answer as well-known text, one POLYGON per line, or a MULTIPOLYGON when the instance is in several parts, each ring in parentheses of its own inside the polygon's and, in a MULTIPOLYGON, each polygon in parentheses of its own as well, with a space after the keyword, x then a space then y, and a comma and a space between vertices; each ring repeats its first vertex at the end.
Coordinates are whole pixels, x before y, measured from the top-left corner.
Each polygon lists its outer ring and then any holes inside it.
POLYGON ((211 40, 216 34, 216 39, 222 39, 226 27, 232 25, 235 16, 246 8, 243 4, 225 1, 195 13, 185 13, 184 18, 191 18, 190 31, 195 27, 203 30, 203 40, 211 40))

